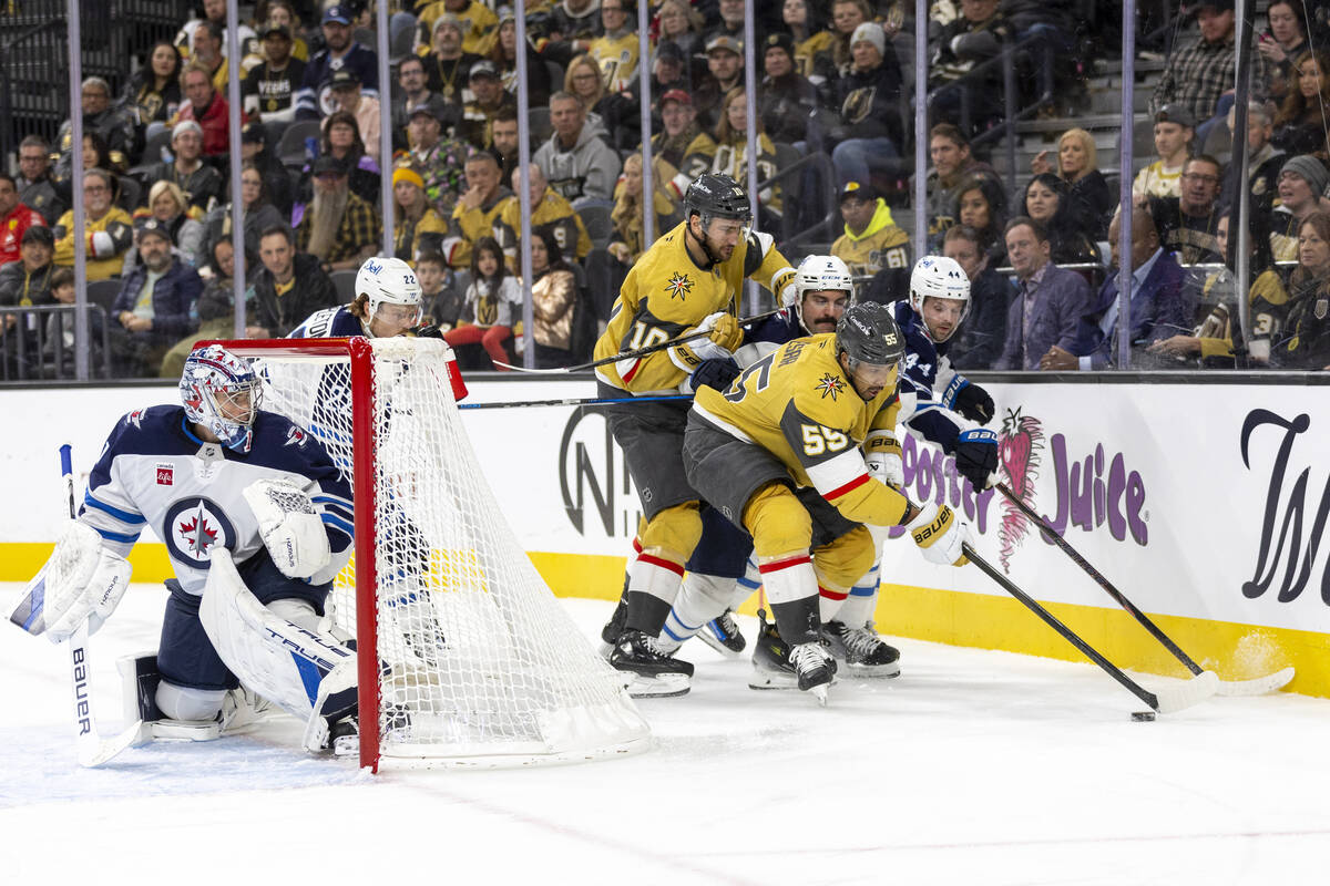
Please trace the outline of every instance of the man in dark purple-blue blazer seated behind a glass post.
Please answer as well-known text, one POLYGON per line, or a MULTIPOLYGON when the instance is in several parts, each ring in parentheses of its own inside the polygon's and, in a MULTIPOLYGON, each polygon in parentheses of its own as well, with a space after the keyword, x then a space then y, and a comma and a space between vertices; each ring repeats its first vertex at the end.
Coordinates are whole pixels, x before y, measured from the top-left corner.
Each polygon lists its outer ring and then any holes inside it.
POLYGON ((1123 267, 1119 255, 1121 215, 1115 214, 1108 226, 1108 242, 1113 251, 1113 272, 1104 280, 1099 296, 1081 316, 1076 343, 1071 348, 1052 345, 1039 368, 1053 372, 1077 369, 1128 369, 1157 365, 1145 357, 1148 345, 1185 333, 1192 328, 1193 306, 1186 298, 1186 275, 1173 255, 1160 243, 1154 219, 1144 206, 1132 209, 1132 268, 1130 336, 1132 363, 1119 364, 1117 337, 1121 329, 1117 310, 1119 274, 1123 267))

